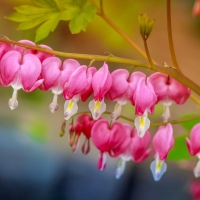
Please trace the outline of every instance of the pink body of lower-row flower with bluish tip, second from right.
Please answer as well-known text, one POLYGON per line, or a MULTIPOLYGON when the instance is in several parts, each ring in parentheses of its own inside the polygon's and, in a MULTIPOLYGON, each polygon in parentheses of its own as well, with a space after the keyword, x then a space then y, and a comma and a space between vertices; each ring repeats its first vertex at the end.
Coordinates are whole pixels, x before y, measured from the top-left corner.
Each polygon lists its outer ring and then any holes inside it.
POLYGON ((159 155, 160 160, 165 160, 174 145, 173 129, 171 124, 160 126, 153 138, 154 156, 159 155))

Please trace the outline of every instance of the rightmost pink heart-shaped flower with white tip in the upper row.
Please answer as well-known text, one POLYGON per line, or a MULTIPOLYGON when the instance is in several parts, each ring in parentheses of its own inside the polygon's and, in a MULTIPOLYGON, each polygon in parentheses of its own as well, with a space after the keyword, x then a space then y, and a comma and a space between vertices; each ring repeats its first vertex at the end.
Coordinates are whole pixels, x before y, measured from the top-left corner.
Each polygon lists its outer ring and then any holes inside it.
POLYGON ((169 106, 173 102, 176 104, 184 104, 190 96, 191 90, 175 79, 160 72, 152 74, 149 79, 157 95, 157 103, 161 102, 164 106, 162 119, 164 122, 167 122, 171 117, 169 106))

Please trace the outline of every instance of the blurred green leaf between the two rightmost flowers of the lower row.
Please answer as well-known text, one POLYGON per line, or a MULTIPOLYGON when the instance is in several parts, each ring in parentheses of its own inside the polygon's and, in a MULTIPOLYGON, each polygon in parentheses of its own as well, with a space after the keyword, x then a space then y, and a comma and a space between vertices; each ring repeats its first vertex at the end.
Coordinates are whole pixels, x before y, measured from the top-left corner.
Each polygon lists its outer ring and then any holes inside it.
POLYGON ((179 161, 188 160, 192 158, 188 153, 188 149, 185 142, 186 137, 189 137, 189 134, 181 135, 175 138, 174 147, 170 150, 167 160, 179 161))

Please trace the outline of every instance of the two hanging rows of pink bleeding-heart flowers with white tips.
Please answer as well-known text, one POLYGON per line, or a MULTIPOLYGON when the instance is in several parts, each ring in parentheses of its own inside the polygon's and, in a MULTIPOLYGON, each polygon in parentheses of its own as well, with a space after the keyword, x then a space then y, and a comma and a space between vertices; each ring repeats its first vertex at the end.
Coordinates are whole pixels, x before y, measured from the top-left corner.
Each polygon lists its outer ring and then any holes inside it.
MULTIPOLYGON (((19 42, 35 46, 28 40, 19 42)), ((40 46, 51 49, 46 45, 40 46)), ((90 151, 91 138, 100 151, 98 161, 100 170, 106 167, 107 154, 111 157, 119 157, 117 178, 123 174, 127 161, 142 162, 150 154, 151 135, 148 131, 150 127, 148 114, 154 113, 155 105, 159 102, 163 104, 162 119, 167 123, 170 118, 170 105, 183 104, 191 93, 186 86, 159 72, 149 77, 142 72, 130 73, 125 69, 117 69, 110 73, 106 63, 97 69, 93 66, 80 65, 74 59, 61 61, 49 53, 6 43, 0 43, 0 84, 12 86, 14 90, 8 102, 11 110, 18 106, 19 89, 25 92, 32 92, 37 88, 42 91, 51 90, 54 94, 53 101, 49 105, 52 113, 58 110, 57 98, 62 94, 66 100, 65 120, 69 120, 78 112, 79 100, 85 102, 93 94, 93 100, 88 106, 91 115, 81 114, 76 124, 73 122, 70 124, 70 145, 72 150, 76 151, 80 135, 83 133, 86 139, 82 152, 87 154, 90 151), (101 117, 106 111, 105 99, 116 101, 110 122, 101 117), (117 121, 122 106, 127 103, 135 107, 134 127, 117 121)), ((156 181, 167 169, 165 160, 173 144, 171 124, 161 126, 152 140, 155 161, 151 163, 150 168, 156 181)), ((187 144, 189 150, 192 149, 191 146, 195 146, 189 140, 187 144)), ((191 155, 197 155, 196 150, 190 152, 191 155)))

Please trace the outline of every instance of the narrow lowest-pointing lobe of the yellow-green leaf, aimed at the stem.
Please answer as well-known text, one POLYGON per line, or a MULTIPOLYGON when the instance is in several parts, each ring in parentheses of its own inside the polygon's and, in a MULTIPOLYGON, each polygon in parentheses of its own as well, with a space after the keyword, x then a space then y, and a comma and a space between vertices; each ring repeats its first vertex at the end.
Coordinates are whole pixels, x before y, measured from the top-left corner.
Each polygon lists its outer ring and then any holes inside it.
POLYGON ((57 15, 51 16, 49 20, 44 22, 36 31, 35 42, 38 42, 46 38, 51 31, 53 32, 56 26, 58 25, 58 22, 60 21, 60 17, 61 17, 61 14, 57 14, 57 15))

